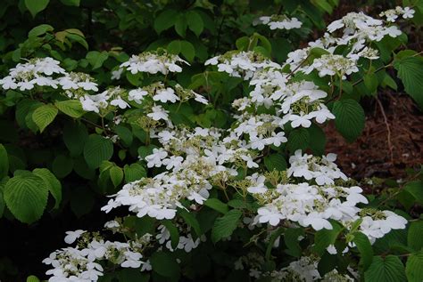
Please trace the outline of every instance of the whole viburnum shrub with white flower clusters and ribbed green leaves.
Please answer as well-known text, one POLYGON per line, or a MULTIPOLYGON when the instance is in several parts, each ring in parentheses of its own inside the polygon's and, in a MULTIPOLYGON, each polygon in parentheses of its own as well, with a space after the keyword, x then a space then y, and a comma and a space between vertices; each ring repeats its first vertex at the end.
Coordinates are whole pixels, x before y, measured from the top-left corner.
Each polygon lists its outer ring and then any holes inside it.
MULTIPOLYGON (((102 74, 108 84, 71 59, 22 59, 0 80, 7 99, 19 101, 18 125, 45 133, 66 120, 63 146, 73 159, 56 157, 53 173, 27 171, 1 146, 5 205, 19 221, 37 221, 49 194, 60 205, 58 179, 79 162, 82 177, 99 171, 95 181, 110 197, 101 210, 120 211, 104 230, 66 232, 69 246, 43 261, 49 281, 421 281, 422 222, 363 195, 325 154, 322 130, 334 120, 355 140, 361 93, 396 90, 393 69, 423 106, 423 57, 402 48, 407 36, 395 24, 414 12, 350 12, 283 63, 272 61, 267 37, 241 37, 189 86, 176 78, 192 61, 184 41, 130 57, 115 51, 120 64, 102 74), (408 243, 389 243, 406 229, 408 243)), ((302 28, 282 14, 255 23, 302 28)), ((102 54, 87 59, 93 68, 102 54)), ((405 190, 419 202, 416 185, 405 190)))

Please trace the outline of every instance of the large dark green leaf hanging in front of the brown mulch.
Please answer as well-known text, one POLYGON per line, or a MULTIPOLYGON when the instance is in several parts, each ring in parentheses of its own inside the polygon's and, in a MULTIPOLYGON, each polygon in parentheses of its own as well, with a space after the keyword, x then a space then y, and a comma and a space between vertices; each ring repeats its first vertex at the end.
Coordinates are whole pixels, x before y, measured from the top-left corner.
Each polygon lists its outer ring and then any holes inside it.
POLYGON ((352 142, 359 137, 364 129, 365 117, 364 110, 357 101, 336 101, 332 111, 336 117, 336 129, 347 141, 352 142))

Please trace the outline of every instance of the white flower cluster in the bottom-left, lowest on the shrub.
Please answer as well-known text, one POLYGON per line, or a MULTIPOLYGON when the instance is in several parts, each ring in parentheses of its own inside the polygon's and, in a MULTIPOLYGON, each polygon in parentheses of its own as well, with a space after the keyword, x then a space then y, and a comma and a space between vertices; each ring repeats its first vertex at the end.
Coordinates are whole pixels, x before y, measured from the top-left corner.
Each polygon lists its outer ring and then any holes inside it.
POLYGON ((104 275, 104 269, 100 262, 105 260, 123 268, 139 268, 143 264, 143 269, 149 269, 148 263, 141 261, 143 258, 141 252, 149 244, 150 234, 137 238, 135 241, 122 243, 104 241, 97 234, 90 236, 84 230, 66 233, 65 242, 67 244, 72 244, 77 239, 79 242, 75 247, 54 251, 43 261, 53 267, 46 271, 47 275, 52 276, 48 280, 50 282, 97 281, 100 276, 104 275))

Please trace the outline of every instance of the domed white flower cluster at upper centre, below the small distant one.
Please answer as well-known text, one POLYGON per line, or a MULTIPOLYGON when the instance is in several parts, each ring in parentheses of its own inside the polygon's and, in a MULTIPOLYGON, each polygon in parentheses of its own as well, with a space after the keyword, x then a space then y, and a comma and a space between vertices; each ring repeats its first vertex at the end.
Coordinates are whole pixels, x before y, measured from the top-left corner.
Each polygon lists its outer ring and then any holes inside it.
POLYGON ((206 60, 204 65, 217 65, 219 71, 228 73, 230 77, 243 77, 245 80, 253 77, 253 74, 262 68, 280 68, 276 62, 253 51, 229 51, 206 60))

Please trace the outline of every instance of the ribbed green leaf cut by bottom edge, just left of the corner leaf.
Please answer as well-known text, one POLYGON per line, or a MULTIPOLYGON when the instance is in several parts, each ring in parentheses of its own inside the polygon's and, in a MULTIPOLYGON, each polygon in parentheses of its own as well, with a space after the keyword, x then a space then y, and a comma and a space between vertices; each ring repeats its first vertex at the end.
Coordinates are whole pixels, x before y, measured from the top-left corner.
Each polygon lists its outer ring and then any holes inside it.
POLYGON ((385 258, 373 257, 369 270, 364 273, 366 281, 371 282, 399 282, 407 281, 401 260, 392 254, 385 258))

